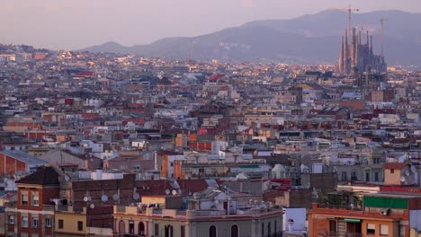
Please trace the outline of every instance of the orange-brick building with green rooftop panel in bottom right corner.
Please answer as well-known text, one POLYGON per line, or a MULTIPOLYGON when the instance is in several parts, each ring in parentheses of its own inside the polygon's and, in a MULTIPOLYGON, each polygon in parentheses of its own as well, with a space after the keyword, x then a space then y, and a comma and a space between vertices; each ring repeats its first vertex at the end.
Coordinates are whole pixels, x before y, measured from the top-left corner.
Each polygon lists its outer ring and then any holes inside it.
POLYGON ((309 211, 309 236, 409 236, 420 228, 417 195, 373 193, 358 198, 330 199, 309 211), (344 202, 345 201, 345 202, 344 202))

